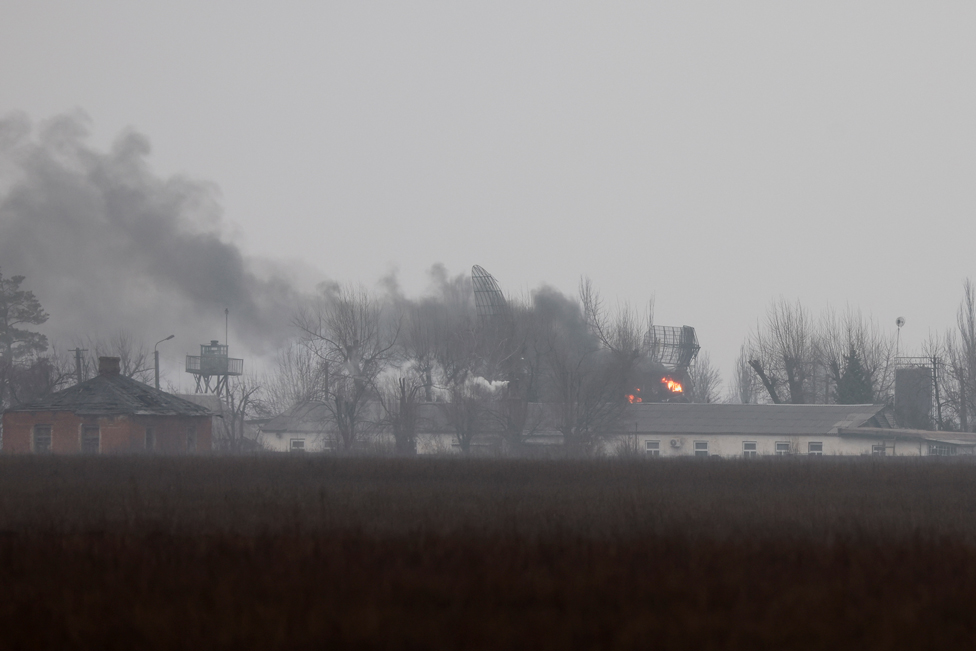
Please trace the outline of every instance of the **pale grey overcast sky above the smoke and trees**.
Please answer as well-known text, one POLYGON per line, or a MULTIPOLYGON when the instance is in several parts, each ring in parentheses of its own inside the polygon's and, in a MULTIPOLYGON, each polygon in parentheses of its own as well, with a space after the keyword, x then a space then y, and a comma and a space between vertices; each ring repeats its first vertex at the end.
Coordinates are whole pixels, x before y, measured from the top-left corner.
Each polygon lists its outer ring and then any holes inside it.
POLYGON ((247 254, 340 281, 653 295, 727 377, 780 296, 903 347, 953 323, 974 33, 971 2, 6 0, 0 115, 134 129, 247 254))

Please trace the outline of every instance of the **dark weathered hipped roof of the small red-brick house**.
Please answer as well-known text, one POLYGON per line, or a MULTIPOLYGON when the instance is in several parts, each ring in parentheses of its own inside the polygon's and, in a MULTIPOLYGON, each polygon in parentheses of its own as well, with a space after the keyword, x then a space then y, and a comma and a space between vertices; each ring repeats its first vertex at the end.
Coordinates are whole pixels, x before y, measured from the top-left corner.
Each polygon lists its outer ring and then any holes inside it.
POLYGON ((210 410, 118 374, 92 379, 7 411, 70 411, 107 416, 210 416, 210 410))

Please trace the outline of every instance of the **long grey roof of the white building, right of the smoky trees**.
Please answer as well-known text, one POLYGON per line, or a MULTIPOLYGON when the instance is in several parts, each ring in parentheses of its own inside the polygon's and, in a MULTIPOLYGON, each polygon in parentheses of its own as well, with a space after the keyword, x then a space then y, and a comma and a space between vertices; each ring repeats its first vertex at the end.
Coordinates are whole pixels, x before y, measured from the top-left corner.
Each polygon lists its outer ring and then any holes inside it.
POLYGON ((622 432, 651 434, 837 434, 841 428, 889 428, 884 405, 730 405, 645 402, 630 405, 622 432))

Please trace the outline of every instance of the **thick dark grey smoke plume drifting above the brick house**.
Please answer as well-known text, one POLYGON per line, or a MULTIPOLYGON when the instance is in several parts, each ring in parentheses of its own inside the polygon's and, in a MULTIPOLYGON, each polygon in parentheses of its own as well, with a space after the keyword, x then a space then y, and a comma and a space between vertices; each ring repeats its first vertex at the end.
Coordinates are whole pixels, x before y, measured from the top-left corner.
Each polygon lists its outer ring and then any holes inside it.
POLYGON ((226 239, 214 185, 156 176, 139 133, 107 152, 88 138, 83 116, 0 119, 0 268, 27 277, 52 338, 176 333, 189 352, 223 339, 225 307, 247 351, 290 334, 297 291, 226 239))

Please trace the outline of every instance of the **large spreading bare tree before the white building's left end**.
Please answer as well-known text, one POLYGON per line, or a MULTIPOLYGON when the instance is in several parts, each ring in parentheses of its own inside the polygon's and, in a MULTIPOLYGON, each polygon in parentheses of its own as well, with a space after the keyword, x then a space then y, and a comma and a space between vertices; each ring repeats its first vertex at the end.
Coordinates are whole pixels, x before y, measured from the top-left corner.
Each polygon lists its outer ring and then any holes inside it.
POLYGON ((321 299, 294 319, 302 343, 328 364, 325 404, 345 451, 375 425, 369 398, 393 359, 401 323, 398 316, 386 317, 383 304, 364 288, 326 287, 321 299))

